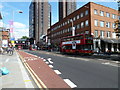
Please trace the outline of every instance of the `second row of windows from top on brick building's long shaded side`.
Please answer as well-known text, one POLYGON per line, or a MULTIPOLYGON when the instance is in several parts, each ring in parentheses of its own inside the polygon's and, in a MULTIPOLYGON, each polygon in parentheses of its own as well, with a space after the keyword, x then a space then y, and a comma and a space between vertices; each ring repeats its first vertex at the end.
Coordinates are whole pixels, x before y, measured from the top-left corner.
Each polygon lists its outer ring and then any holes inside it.
MULTIPOLYGON (((74 25, 75 29, 80 29, 80 28, 84 28, 84 27, 87 27, 87 26, 89 26, 88 20, 86 20, 85 22, 81 22, 77 25, 74 25)), ((61 34, 64 34, 64 33, 68 33, 68 32, 72 32, 72 27, 60 30, 59 32, 56 32, 56 33, 52 34, 52 37, 55 37, 57 35, 61 35, 61 34)))

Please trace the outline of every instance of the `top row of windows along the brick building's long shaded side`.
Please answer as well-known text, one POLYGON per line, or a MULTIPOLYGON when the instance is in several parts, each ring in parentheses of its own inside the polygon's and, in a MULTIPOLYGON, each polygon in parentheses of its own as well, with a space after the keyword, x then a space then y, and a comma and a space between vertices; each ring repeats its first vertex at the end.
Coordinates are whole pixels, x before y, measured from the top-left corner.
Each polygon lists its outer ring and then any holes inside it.
POLYGON ((88 10, 86 10, 85 12, 81 12, 80 14, 78 14, 77 16, 71 18, 71 19, 68 19, 67 21, 63 22, 62 24, 54 27, 53 29, 51 29, 51 31, 54 31, 54 30, 57 30, 58 28, 61 28, 62 26, 65 26, 69 23, 72 23, 73 21, 77 20, 77 19, 80 19, 84 16, 87 16, 88 15, 88 10))

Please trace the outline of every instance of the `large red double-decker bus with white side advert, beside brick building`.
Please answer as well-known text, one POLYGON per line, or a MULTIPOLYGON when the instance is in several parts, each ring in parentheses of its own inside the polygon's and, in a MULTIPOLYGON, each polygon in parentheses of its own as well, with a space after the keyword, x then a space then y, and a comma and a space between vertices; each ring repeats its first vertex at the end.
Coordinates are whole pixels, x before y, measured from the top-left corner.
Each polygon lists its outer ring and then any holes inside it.
POLYGON ((93 36, 79 34, 61 39, 60 51, 62 53, 93 54, 93 36))

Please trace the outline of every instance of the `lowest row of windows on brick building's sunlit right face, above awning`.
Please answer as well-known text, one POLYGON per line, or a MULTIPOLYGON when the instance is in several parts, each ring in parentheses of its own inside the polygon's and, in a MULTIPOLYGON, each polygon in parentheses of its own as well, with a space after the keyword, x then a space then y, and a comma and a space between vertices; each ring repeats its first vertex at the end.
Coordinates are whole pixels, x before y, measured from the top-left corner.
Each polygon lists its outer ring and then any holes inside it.
MULTIPOLYGON (((104 38, 104 37, 107 37, 107 38, 114 38, 112 36, 112 32, 110 31, 103 31, 103 30, 95 30, 94 31, 94 37, 98 37, 98 33, 100 33, 100 37, 104 38)), ((114 32, 113 32, 114 34, 114 32)))

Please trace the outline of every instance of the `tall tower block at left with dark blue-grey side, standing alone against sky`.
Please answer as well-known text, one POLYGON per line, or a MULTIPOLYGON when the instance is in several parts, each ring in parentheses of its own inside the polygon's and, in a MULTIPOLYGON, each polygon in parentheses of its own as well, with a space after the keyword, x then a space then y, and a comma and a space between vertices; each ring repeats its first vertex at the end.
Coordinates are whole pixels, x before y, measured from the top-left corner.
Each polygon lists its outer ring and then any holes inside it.
POLYGON ((29 7, 29 35, 35 39, 35 43, 40 42, 40 38, 47 34, 47 29, 50 28, 51 6, 46 2, 33 0, 29 7))

